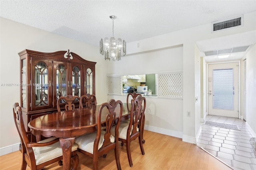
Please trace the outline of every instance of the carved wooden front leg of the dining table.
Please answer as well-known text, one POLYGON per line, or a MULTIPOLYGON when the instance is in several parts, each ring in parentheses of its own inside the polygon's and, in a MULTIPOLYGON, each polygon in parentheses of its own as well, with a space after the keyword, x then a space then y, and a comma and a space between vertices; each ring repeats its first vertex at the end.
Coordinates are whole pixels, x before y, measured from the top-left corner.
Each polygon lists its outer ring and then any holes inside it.
POLYGON ((63 153, 63 170, 70 170, 71 151, 75 138, 60 138, 63 153))

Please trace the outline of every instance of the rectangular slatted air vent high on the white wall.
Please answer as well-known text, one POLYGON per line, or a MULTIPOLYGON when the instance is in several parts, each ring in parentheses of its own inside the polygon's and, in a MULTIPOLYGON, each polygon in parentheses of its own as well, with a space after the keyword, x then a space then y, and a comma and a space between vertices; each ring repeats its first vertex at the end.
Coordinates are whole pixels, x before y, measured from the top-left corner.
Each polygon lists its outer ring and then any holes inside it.
POLYGON ((212 22, 212 32, 237 26, 243 26, 243 19, 243 16, 239 16, 236 18, 230 18, 229 20, 212 22))

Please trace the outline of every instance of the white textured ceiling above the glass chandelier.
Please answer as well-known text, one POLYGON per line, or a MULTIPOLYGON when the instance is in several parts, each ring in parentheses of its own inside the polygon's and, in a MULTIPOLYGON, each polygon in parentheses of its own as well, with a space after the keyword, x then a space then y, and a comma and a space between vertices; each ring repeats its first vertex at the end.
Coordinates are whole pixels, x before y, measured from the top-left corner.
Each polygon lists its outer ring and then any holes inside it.
MULTIPOLYGON (((114 20, 114 36, 129 43, 256 11, 256 0, 0 2, 2 18, 96 46, 101 38, 112 36, 110 15, 117 17, 114 20)), ((203 45, 202 48, 210 47, 203 45)))

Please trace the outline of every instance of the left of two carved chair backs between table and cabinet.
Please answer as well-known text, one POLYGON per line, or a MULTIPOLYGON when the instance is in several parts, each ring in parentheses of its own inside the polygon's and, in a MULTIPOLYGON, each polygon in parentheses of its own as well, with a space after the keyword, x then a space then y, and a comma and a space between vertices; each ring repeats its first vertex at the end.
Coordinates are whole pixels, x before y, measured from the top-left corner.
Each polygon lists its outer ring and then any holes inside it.
POLYGON ((70 111, 70 110, 75 109, 75 105, 74 105, 75 101, 78 101, 79 106, 80 106, 80 97, 79 96, 67 95, 66 97, 64 97, 64 96, 59 97, 59 99, 57 100, 58 112, 61 111, 60 110, 60 105, 63 104, 63 103, 66 103, 65 104, 65 110, 66 111, 70 111))

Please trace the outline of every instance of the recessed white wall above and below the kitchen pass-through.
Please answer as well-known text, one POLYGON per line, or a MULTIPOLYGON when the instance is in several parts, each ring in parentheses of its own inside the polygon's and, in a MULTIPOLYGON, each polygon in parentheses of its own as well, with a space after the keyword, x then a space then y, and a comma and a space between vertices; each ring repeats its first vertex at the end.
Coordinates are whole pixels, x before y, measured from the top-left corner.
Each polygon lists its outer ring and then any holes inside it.
MULTIPOLYGON (((181 45, 122 57, 109 66, 109 75, 171 73, 183 70, 181 45)), ((126 96, 108 95, 108 100, 126 101, 126 96)), ((183 101, 146 97, 145 129, 182 138, 183 101), (166 104, 168 107, 166 107, 166 104)))

